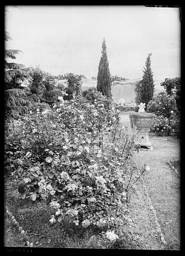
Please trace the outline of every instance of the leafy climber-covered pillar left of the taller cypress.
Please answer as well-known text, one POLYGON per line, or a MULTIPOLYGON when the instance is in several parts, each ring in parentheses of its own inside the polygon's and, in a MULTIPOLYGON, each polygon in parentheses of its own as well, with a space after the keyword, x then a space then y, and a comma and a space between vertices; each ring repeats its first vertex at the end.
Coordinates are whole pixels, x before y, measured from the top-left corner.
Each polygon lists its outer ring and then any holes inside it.
POLYGON ((74 73, 65 74, 65 79, 67 80, 67 88, 65 92, 68 95, 64 95, 64 100, 72 99, 73 93, 77 93, 77 94, 81 93, 82 78, 85 78, 85 76, 82 74, 80 75, 74 74, 74 73))

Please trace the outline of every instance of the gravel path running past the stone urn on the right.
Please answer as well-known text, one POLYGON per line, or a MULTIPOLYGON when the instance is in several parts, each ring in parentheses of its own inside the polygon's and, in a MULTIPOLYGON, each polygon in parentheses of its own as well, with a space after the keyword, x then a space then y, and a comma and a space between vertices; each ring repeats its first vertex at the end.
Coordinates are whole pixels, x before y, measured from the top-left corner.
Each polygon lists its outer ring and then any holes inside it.
POLYGON ((144 164, 150 167, 143 179, 167 241, 167 249, 180 250, 180 177, 167 163, 180 159, 179 142, 150 140, 153 151, 140 150, 135 156, 140 168, 144 164))

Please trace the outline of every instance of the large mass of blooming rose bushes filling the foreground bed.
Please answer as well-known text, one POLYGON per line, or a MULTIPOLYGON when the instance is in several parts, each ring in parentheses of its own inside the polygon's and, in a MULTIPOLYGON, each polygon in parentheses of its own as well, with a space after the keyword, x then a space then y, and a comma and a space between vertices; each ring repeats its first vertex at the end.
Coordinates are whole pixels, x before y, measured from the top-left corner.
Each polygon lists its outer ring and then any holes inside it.
POLYGON ((74 97, 6 123, 6 168, 22 178, 22 198, 50 202, 50 223, 65 219, 122 237, 134 142, 119 129, 114 103, 74 97))

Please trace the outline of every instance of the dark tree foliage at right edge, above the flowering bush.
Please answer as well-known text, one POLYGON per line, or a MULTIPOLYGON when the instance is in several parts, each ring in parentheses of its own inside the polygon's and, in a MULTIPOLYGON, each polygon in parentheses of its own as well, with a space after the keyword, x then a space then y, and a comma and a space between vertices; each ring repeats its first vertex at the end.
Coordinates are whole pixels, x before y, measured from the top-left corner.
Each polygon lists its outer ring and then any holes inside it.
POLYGON ((177 103, 178 110, 180 110, 181 106, 181 77, 175 78, 166 78, 164 82, 161 83, 161 86, 167 91, 167 94, 171 95, 176 93, 175 99, 177 103))

